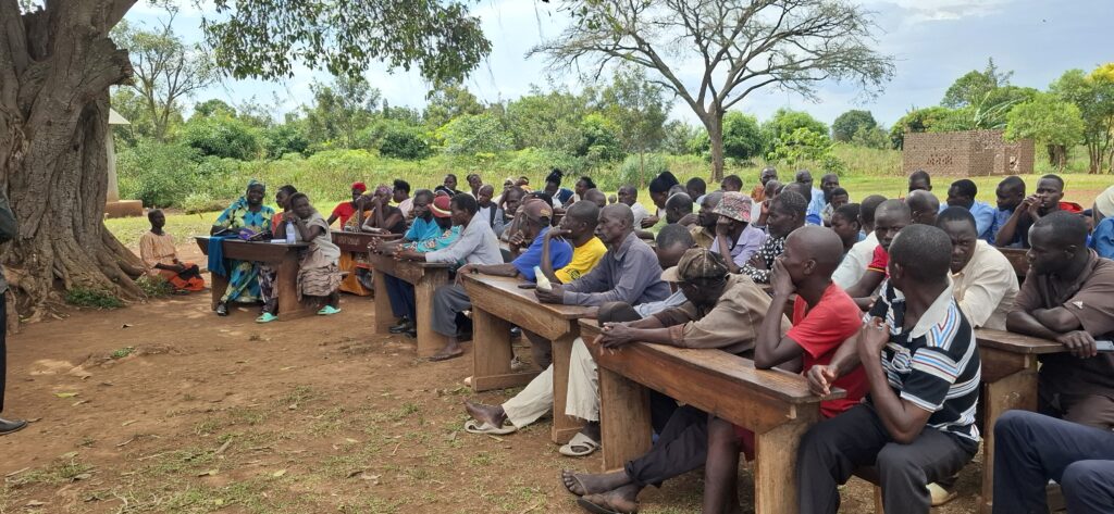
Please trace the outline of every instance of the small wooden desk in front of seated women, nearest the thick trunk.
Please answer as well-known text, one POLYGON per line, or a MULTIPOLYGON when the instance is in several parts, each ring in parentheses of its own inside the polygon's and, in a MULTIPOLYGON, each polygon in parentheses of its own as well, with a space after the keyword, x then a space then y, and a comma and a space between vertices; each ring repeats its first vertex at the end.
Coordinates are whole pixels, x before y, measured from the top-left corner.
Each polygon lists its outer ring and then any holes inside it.
MULTIPOLYGON (((208 255, 208 236, 197 236, 197 246, 208 255)), ((275 291, 278 295, 278 320, 285 322, 313 314, 304 303, 297 300, 297 263, 299 254, 309 246, 305 243, 287 245, 285 243, 247 243, 240 239, 225 239, 224 257, 234 260, 252 260, 270 265, 277 273, 275 291)), ((231 270, 228 270, 231 273, 231 270)), ((209 286, 213 289, 213 310, 228 288, 228 277, 222 277, 209 270, 209 286)))

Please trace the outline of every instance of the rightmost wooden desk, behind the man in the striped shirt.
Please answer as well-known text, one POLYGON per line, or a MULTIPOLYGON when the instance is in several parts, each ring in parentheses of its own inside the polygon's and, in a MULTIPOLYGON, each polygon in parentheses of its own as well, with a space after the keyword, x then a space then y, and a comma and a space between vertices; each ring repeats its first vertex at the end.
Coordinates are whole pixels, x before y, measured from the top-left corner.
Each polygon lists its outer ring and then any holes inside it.
POLYGON ((1001 330, 975 330, 983 362, 983 498, 980 512, 994 505, 994 424, 1006 411, 1037 409, 1037 357, 1064 352, 1048 339, 1001 330))

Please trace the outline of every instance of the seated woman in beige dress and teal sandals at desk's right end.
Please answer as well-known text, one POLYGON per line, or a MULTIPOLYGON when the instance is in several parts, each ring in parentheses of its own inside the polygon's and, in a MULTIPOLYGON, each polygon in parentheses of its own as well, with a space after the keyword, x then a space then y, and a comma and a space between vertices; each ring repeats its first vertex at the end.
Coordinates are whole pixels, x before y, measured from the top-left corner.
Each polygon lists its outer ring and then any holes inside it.
POLYGON ((294 229, 303 241, 310 244, 297 270, 297 299, 310 297, 324 304, 317 314, 333 315, 340 313, 341 270, 338 261, 341 249, 333 243, 329 234, 325 218, 310 205, 310 197, 304 192, 295 192, 290 197, 291 210, 294 212, 294 229))

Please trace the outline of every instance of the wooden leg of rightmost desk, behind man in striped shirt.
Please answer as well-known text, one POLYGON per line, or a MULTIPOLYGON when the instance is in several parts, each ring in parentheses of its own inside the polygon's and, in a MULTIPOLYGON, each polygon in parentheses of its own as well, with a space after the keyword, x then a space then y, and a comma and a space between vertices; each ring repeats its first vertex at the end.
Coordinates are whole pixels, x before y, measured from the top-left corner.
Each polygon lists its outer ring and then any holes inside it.
POLYGON ((994 424, 1006 411, 1037 409, 1037 372, 1029 367, 987 383, 985 393, 986 428, 983 431, 983 498, 979 510, 989 514, 994 507, 994 424))

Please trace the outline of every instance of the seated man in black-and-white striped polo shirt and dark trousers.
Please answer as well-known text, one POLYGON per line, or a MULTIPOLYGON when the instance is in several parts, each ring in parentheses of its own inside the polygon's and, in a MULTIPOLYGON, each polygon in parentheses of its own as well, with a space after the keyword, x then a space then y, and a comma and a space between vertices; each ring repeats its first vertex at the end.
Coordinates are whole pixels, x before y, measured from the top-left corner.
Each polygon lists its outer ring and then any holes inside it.
POLYGON ((807 374, 827 394, 861 366, 864 403, 814 425, 801 439, 797 492, 801 513, 839 511, 839 485, 874 466, 886 512, 929 512, 927 484, 950 477, 978 451, 975 406, 979 354, 975 330, 951 294, 951 243, 936 227, 910 225, 890 245, 889 280, 856 344, 807 374))

